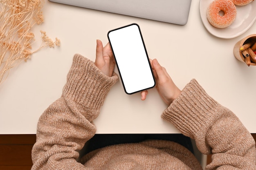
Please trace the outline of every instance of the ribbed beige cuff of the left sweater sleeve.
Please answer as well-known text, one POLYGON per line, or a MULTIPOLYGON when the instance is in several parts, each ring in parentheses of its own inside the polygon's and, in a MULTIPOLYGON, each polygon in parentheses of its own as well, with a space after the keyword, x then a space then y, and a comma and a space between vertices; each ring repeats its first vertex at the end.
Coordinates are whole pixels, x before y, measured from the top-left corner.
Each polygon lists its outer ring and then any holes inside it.
POLYGON ((75 54, 67 75, 67 83, 63 88, 63 96, 66 100, 75 102, 81 112, 86 114, 94 112, 91 119, 95 119, 108 91, 117 80, 116 73, 108 77, 95 66, 94 62, 75 54))

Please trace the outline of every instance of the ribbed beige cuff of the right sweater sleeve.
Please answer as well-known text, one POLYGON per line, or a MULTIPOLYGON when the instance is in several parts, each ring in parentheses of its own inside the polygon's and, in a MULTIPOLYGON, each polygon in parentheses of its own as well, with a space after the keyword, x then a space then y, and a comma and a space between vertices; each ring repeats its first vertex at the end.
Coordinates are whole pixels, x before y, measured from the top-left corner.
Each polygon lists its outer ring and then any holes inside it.
POLYGON ((192 139, 200 136, 203 141, 207 130, 222 114, 221 110, 223 107, 192 79, 179 97, 164 110, 162 118, 175 124, 184 135, 192 139))

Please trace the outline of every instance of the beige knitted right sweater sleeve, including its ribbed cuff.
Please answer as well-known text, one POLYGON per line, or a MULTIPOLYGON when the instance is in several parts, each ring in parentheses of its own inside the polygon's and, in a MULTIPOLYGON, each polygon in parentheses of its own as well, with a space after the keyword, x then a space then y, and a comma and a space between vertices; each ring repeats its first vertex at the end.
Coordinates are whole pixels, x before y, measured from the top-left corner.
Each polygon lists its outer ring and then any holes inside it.
POLYGON ((162 113, 203 154, 213 154, 209 170, 256 170, 255 141, 229 109, 211 98, 195 79, 162 113))

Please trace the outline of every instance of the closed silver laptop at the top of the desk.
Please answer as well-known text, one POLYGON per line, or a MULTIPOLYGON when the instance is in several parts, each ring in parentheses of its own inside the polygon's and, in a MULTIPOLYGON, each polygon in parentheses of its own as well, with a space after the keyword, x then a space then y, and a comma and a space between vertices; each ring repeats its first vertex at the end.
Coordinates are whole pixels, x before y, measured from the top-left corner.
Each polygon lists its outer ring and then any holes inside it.
POLYGON ((185 25, 191 0, 49 0, 62 4, 185 25))

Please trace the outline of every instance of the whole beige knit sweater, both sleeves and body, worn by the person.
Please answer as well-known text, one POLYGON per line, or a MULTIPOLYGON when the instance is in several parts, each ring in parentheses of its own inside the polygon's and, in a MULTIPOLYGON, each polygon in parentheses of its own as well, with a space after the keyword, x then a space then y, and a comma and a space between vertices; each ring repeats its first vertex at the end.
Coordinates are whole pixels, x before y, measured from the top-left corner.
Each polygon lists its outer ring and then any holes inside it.
MULTIPOLYGON (((94 62, 78 54, 74 56, 63 95, 38 121, 32 170, 202 169, 189 150, 161 140, 108 146, 76 160, 79 150, 95 134, 93 120, 117 79, 117 74, 108 77, 94 62)), ((250 133, 229 109, 207 95, 195 79, 164 110, 162 118, 195 139, 202 153, 213 154, 206 169, 256 169, 255 142, 250 133)))

